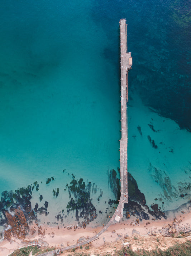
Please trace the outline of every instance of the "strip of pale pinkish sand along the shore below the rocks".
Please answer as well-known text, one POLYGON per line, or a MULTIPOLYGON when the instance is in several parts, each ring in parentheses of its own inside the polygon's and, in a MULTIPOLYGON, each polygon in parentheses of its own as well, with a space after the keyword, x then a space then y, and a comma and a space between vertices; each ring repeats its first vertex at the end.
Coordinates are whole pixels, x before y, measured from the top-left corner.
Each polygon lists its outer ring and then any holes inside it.
MULTIPOLYGON (((186 208, 186 206, 185 206, 186 208)), ((143 220, 139 221, 136 216, 131 216, 129 219, 120 220, 119 223, 111 225, 106 232, 100 235, 99 239, 89 244, 89 253, 107 253, 120 250, 123 247, 123 242, 129 242, 133 250, 145 249, 152 250, 156 247, 165 250, 169 246, 176 243, 183 243, 186 240, 191 241, 189 232, 191 231, 191 208, 178 212, 169 212, 167 220, 143 220), (184 213, 182 213, 184 212, 184 213)), ((65 247, 78 242, 78 239, 87 239, 99 232, 102 226, 86 229, 75 229, 74 226, 39 226, 36 223, 30 225, 30 230, 36 230, 31 235, 27 235, 24 241, 14 239, 8 242, 4 240, 0 243, 0 256, 7 256, 17 248, 26 246, 29 241, 39 241, 42 247, 65 247), (40 231, 39 231, 40 230, 40 231), (83 238, 82 238, 83 237, 83 238)), ((83 246, 82 250, 87 252, 87 246, 83 246)), ((68 255, 68 251, 63 252, 63 255, 68 255)))

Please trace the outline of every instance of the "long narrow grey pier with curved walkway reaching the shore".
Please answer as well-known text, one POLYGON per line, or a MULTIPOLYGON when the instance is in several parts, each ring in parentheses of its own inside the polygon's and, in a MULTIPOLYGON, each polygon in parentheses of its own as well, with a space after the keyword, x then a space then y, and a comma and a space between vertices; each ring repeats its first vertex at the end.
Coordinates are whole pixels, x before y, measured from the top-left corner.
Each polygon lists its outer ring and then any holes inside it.
POLYGON ((84 244, 91 243, 99 238, 110 225, 117 223, 123 218, 124 204, 128 203, 128 181, 127 181, 127 144, 128 144, 128 126, 127 126, 127 104, 128 104, 128 71, 132 68, 131 52, 127 51, 127 24, 126 19, 120 19, 120 69, 121 69, 121 139, 120 139, 120 183, 121 183, 121 196, 118 207, 115 209, 114 215, 110 218, 110 221, 91 238, 83 242, 79 242, 73 245, 67 245, 65 247, 57 248, 56 250, 44 252, 39 254, 40 256, 53 256, 58 255, 62 251, 66 251, 72 248, 80 247, 84 244))

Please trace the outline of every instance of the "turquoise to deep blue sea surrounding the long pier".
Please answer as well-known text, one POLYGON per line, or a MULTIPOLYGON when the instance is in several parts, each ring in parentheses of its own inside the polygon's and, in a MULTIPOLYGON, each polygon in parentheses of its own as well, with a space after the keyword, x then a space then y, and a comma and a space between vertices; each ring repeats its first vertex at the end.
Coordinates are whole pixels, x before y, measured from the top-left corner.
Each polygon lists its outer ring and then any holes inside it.
MULTIPOLYGON (((109 171, 119 178, 119 20, 126 18, 128 171, 149 207, 155 198, 161 210, 186 203, 190 9, 190 1, 173 0, 2 0, 0 193, 37 181, 32 207, 48 201, 38 219, 54 223, 70 201, 67 184, 82 178, 92 185, 94 222, 106 221, 106 202, 116 199, 109 171)), ((65 219, 74 223, 75 213, 65 219)))

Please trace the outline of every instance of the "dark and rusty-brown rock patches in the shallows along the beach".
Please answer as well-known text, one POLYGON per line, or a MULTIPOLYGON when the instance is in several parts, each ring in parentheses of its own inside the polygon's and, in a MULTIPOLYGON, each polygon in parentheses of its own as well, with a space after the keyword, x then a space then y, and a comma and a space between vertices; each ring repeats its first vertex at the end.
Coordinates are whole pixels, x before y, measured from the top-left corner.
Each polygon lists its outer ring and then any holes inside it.
MULTIPOLYGON (((67 214, 65 214, 65 211, 62 210, 62 212, 59 212, 55 216, 57 222, 47 223, 47 225, 55 224, 58 228, 60 225, 63 225, 65 228, 67 228, 67 225, 63 224, 63 220, 70 215, 70 212, 73 212, 77 222, 77 225, 74 225, 73 229, 85 229, 91 221, 94 221, 97 218, 98 214, 112 214, 120 198, 120 181, 119 178, 117 178, 117 173, 114 169, 110 170, 108 177, 109 186, 115 200, 109 199, 108 202, 105 202, 105 213, 101 210, 97 212, 97 209, 92 201, 91 195, 96 195, 98 193, 96 184, 92 184, 88 181, 85 183, 82 178, 80 180, 76 180, 75 176, 72 174, 71 182, 66 184, 70 199, 66 206, 67 214), (110 207, 110 212, 107 205, 110 207)), ((46 184, 48 185, 54 179, 54 177, 48 178, 46 180, 46 184)), ((35 203, 35 207, 32 208, 31 199, 33 190, 39 190, 39 184, 37 181, 29 185, 27 188, 2 192, 0 202, 0 225, 4 227, 4 231, 0 234, 1 238, 11 242, 13 238, 25 239, 29 234, 34 235, 35 233, 38 233, 41 237, 44 236, 45 230, 42 229, 38 216, 47 216, 49 214, 49 202, 45 201, 44 207, 39 207, 39 203, 43 200, 43 195, 40 194, 39 202, 35 203), (35 224, 35 228, 31 226, 31 224, 35 224)), ((144 194, 140 192, 136 180, 130 173, 128 173, 128 190, 129 202, 125 205, 124 209, 124 216, 126 219, 135 217, 139 222, 143 220, 155 221, 167 219, 168 212, 162 212, 157 203, 153 203, 151 205, 152 210, 150 210, 146 204, 144 194)), ((59 188, 53 190, 53 196, 58 197, 58 194, 59 188)), ((102 194, 103 192, 100 190, 100 194, 97 196, 98 203, 102 197, 102 194)), ((185 207, 190 207, 190 202, 187 203, 185 207)), ((135 221, 135 223, 137 223, 137 221, 135 221)), ((70 225, 68 229, 72 229, 72 226, 70 225)), ((177 226, 172 226, 173 231, 174 229, 176 232, 180 232, 177 226)), ((170 233, 168 230, 162 230, 161 232, 166 232, 166 234, 170 233)))

